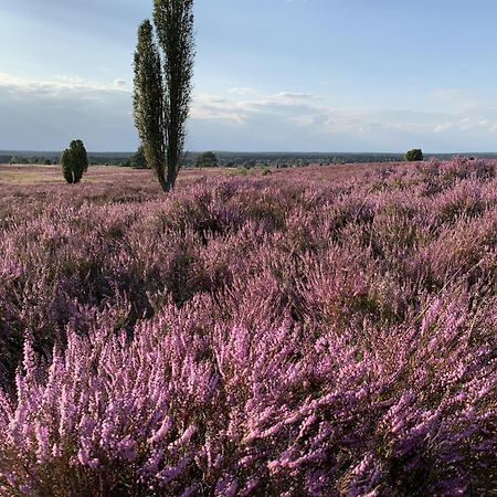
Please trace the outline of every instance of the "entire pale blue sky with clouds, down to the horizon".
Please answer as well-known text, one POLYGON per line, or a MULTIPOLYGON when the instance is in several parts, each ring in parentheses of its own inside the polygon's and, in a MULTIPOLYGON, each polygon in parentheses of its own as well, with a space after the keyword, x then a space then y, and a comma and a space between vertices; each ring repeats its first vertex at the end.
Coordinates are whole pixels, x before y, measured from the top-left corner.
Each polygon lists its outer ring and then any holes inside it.
MULTIPOLYGON (((0 0, 0 150, 131 151, 151 0, 0 0)), ((495 0, 195 0, 188 150, 497 151, 495 0)))

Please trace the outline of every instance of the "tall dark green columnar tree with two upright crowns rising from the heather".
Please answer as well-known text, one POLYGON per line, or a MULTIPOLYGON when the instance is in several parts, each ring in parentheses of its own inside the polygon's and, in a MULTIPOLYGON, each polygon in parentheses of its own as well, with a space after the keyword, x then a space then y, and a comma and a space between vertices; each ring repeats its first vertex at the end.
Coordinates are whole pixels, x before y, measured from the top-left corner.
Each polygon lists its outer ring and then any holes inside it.
POLYGON ((193 0, 155 0, 138 29, 135 124, 163 191, 173 188, 186 139, 193 75, 193 0))

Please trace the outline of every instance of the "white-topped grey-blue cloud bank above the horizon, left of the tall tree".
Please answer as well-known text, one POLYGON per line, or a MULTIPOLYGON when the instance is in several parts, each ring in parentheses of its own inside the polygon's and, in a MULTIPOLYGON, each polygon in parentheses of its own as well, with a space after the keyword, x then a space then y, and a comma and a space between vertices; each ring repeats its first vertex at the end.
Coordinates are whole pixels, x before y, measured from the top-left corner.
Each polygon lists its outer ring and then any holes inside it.
POLYGON ((0 149, 57 150, 78 137, 91 150, 133 150, 130 108, 130 93, 114 82, 0 73, 0 149))

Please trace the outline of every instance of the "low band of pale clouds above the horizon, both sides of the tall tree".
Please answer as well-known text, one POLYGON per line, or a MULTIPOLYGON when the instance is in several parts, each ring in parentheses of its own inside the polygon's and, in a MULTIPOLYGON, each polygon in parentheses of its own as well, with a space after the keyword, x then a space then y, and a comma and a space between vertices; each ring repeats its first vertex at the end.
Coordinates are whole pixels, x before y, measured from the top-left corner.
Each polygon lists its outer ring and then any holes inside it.
MULTIPOLYGON (((0 149, 92 150, 137 146, 126 81, 30 81, 0 73, 0 149)), ((402 151, 495 150, 497 107, 458 89, 427 95, 429 109, 350 108, 308 93, 234 87, 194 95, 190 149, 402 151)))

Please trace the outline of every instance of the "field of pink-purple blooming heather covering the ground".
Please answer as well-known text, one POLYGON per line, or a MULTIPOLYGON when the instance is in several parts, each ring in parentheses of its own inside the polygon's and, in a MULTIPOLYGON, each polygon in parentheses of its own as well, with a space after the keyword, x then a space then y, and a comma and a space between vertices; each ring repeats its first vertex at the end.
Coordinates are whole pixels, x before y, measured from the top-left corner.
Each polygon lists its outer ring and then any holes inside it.
POLYGON ((0 495, 497 495, 496 163, 0 167, 0 495))

